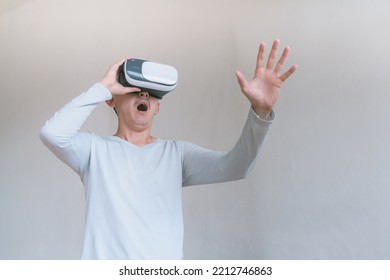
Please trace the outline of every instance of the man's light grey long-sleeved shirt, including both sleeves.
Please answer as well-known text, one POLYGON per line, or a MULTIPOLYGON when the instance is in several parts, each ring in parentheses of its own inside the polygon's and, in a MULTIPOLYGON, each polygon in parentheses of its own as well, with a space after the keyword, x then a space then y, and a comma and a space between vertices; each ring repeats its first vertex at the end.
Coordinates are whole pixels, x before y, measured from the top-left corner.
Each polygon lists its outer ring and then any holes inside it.
POLYGON ((181 259, 182 187, 242 179, 252 169, 271 120, 251 109, 230 152, 157 139, 138 147, 80 128, 111 93, 101 84, 46 122, 43 143, 79 174, 86 192, 82 259, 181 259))

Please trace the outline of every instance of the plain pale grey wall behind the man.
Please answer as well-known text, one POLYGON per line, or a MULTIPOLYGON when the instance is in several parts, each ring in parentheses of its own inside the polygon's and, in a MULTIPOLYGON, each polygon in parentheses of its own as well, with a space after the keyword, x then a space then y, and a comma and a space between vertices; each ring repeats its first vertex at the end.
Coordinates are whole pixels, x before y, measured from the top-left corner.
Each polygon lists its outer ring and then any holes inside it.
MULTIPOLYGON (((184 190, 187 259, 390 258, 389 1, 0 1, 0 258, 77 259, 84 193, 38 138, 131 55, 180 73, 153 133, 227 150, 249 109, 234 71, 257 47, 298 72, 244 181, 184 190)), ((113 134, 99 106, 83 127, 113 134)))

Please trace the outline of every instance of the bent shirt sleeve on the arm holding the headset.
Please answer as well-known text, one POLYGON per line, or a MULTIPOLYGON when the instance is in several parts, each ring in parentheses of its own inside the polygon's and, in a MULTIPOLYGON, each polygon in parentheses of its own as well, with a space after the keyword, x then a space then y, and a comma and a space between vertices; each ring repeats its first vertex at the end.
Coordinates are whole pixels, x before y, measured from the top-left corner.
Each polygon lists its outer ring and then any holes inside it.
POLYGON ((91 146, 91 134, 79 132, 98 104, 112 98, 109 90, 97 83, 54 114, 40 130, 42 142, 78 174, 83 172, 91 146))

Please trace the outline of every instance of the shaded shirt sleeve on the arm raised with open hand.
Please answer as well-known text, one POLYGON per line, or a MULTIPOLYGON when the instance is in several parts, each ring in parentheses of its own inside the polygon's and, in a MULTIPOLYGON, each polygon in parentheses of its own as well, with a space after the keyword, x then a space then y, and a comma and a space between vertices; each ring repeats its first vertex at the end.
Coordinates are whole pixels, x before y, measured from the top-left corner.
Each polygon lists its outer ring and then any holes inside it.
POLYGON ((183 143, 183 186, 221 183, 247 177, 274 118, 272 112, 269 120, 262 120, 251 109, 240 138, 229 152, 211 151, 183 143))

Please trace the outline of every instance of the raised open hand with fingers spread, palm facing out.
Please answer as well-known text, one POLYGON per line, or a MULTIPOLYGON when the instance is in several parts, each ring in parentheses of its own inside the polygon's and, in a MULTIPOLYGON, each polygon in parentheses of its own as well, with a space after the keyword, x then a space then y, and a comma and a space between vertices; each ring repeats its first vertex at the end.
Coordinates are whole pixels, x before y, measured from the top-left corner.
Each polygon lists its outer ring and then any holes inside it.
POLYGON ((263 67, 265 44, 260 44, 255 75, 252 80, 248 81, 241 72, 236 72, 241 91, 249 99, 255 112, 263 119, 267 119, 272 112, 278 100, 283 82, 294 73, 298 67, 297 65, 293 65, 282 75, 279 74, 290 52, 290 48, 285 47, 274 68, 276 52, 279 45, 279 40, 273 42, 267 64, 263 67))

